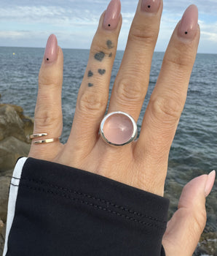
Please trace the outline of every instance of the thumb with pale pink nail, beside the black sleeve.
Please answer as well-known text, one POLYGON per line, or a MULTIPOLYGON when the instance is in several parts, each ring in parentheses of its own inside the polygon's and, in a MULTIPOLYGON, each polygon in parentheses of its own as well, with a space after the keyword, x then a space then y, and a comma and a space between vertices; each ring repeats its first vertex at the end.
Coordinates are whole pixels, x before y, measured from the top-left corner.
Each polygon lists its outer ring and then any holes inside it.
POLYGON ((178 210, 167 223, 162 244, 167 256, 193 255, 206 223, 205 197, 209 195, 216 172, 189 181, 184 187, 178 210))

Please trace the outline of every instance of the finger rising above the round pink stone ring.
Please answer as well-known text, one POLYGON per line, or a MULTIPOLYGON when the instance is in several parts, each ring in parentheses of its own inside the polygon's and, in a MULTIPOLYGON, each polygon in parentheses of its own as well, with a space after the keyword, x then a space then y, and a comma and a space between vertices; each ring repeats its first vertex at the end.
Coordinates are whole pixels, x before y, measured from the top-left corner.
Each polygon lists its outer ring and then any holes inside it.
POLYGON ((161 15, 161 0, 138 2, 108 112, 120 110, 138 119, 149 86, 151 59, 161 15))

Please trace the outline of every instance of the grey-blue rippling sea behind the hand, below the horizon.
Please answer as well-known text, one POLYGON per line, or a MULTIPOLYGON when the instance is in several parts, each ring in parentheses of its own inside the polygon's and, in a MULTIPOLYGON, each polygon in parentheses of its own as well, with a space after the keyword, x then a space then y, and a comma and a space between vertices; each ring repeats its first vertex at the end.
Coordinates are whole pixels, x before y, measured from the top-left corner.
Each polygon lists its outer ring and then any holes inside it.
MULTIPOLYGON (((110 93, 123 53, 117 51, 111 75, 110 93)), ((26 116, 34 116, 38 74, 43 54, 43 48, 0 48, 0 103, 20 105, 26 116)), ((63 49, 63 54, 62 140, 66 143, 89 50, 63 49)), ((164 53, 154 53, 149 90, 138 119, 138 129, 141 128, 142 118, 157 81, 163 56, 164 53)), ((165 182, 165 196, 170 198, 169 217, 177 209, 178 197, 184 185, 192 178, 209 173, 211 170, 217 170, 217 55, 198 53, 189 83, 186 105, 170 150, 165 182)), ((216 185, 217 182, 206 201, 208 222, 204 231, 212 234, 212 238, 214 235, 213 239, 216 241, 214 244, 217 243, 216 185)))

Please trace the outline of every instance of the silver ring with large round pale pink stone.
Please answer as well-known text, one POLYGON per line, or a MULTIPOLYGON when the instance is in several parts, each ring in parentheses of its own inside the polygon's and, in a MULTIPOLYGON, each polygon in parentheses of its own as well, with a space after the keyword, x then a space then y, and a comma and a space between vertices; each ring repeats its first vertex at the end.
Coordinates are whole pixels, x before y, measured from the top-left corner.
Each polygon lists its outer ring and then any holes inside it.
POLYGON ((135 120, 125 112, 108 113, 100 124, 100 136, 111 146, 124 146, 135 140, 137 134, 135 120))

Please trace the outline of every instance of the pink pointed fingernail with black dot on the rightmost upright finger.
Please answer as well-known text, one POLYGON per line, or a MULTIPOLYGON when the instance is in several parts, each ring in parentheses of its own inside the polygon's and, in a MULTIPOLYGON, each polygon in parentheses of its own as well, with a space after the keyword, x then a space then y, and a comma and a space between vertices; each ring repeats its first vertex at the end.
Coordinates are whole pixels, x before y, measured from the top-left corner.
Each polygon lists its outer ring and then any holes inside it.
POLYGON ((190 5, 181 18, 178 26, 178 36, 186 39, 193 39, 197 32, 198 9, 197 6, 190 5))

